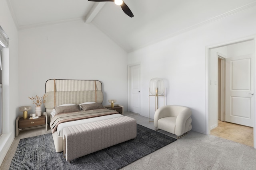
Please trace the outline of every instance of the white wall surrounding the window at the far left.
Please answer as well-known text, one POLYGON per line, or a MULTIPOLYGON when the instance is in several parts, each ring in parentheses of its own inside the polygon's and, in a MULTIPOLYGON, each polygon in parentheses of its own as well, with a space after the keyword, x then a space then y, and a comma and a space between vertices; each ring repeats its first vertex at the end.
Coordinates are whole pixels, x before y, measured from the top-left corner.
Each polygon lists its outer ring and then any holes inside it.
POLYGON ((0 25, 10 38, 4 49, 3 61, 3 135, 0 137, 0 164, 14 139, 18 106, 18 31, 12 20, 6 0, 0 0, 0 25))

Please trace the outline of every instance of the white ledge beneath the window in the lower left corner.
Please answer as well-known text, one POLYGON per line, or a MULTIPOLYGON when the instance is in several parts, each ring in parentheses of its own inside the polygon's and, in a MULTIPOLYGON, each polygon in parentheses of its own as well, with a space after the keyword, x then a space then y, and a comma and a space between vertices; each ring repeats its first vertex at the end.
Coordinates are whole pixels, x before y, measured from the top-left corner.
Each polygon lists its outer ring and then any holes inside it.
POLYGON ((10 149, 12 142, 14 140, 13 133, 4 133, 0 137, 0 166, 4 161, 4 157, 6 156, 8 150, 10 149))

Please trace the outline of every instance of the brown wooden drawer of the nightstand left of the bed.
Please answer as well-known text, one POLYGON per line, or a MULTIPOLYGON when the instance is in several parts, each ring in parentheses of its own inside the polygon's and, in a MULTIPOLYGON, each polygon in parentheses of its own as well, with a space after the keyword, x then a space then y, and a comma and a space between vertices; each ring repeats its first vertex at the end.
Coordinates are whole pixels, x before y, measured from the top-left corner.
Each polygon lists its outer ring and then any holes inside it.
POLYGON ((18 121, 18 128, 28 128, 45 125, 45 115, 40 116, 38 119, 23 119, 18 121))

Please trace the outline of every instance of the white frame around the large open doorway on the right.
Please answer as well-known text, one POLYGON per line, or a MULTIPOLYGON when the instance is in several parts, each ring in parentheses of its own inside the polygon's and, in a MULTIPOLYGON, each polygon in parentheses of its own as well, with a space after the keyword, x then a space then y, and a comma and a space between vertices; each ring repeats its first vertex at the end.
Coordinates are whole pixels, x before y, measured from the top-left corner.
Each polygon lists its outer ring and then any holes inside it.
MULTIPOLYGON (((227 46, 227 45, 231 45, 231 44, 234 44, 234 43, 242 43, 244 41, 253 41, 254 43, 254 67, 256 67, 256 36, 250 36, 250 37, 246 37, 246 38, 243 38, 243 39, 238 39, 238 40, 235 40, 235 41, 230 41, 230 42, 227 42, 227 43, 222 43, 222 44, 218 44, 218 45, 212 45, 212 46, 208 46, 206 47, 206 121, 205 121, 205 129, 206 129, 206 134, 210 134, 210 111, 209 111, 209 82, 210 82, 210 64, 209 64, 209 61, 210 61, 210 50, 213 49, 213 48, 217 48, 217 47, 224 47, 224 46, 227 46)), ((254 75, 256 72, 256 69, 254 69, 254 75)), ((254 90, 256 90, 256 80, 254 79, 254 90)), ((218 95, 218 94, 216 94, 218 95)), ((218 114, 218 113, 217 113, 218 114)), ((254 124, 253 124, 253 138, 254 138, 254 149, 256 149, 256 100, 254 100, 254 124)))

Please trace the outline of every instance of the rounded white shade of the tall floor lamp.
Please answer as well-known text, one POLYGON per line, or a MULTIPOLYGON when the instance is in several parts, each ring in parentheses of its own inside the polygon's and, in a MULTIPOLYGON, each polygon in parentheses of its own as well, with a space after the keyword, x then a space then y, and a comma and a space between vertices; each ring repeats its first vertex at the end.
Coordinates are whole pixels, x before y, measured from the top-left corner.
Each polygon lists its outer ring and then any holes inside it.
POLYGON ((161 78, 152 78, 149 82, 149 92, 152 95, 161 95, 164 92, 164 80, 161 78))

